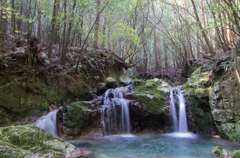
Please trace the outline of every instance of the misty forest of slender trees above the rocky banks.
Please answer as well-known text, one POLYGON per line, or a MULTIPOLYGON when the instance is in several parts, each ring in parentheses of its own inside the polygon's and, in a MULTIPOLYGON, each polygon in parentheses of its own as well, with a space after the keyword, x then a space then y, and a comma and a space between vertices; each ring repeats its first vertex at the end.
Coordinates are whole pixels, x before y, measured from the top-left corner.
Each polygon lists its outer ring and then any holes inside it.
POLYGON ((29 71, 41 56, 77 72, 82 58, 94 67, 87 54, 105 51, 130 74, 176 71, 238 52, 239 6, 238 0, 2 0, 0 57, 26 53, 29 71))

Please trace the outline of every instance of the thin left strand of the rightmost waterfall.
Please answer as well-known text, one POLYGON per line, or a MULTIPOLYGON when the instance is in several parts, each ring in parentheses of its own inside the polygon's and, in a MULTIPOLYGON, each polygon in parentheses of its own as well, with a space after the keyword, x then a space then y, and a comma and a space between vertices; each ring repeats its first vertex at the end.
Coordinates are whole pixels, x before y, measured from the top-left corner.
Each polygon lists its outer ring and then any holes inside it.
POLYGON ((172 115, 172 123, 174 131, 178 131, 178 120, 177 120, 177 114, 176 114, 176 108, 174 104, 174 97, 173 97, 174 89, 171 89, 170 91, 170 111, 172 115))

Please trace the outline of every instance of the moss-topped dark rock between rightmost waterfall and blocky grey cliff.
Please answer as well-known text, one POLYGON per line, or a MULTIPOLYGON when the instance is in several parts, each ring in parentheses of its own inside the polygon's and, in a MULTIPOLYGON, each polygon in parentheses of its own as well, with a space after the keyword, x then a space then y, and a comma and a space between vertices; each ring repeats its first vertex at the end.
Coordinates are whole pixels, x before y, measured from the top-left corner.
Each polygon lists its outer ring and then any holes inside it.
POLYGON ((195 133, 216 134, 217 129, 209 105, 210 72, 202 71, 202 67, 198 68, 183 85, 188 101, 188 126, 189 130, 195 133))

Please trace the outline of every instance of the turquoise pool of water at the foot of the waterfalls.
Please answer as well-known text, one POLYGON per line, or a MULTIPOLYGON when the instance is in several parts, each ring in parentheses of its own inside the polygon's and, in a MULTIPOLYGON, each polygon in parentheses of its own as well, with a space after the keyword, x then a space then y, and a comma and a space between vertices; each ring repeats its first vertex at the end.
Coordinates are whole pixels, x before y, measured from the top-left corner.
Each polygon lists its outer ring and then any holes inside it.
POLYGON ((221 138, 191 133, 112 135, 69 142, 93 151, 96 158, 212 158, 211 149, 215 146, 230 153, 240 149, 221 138))

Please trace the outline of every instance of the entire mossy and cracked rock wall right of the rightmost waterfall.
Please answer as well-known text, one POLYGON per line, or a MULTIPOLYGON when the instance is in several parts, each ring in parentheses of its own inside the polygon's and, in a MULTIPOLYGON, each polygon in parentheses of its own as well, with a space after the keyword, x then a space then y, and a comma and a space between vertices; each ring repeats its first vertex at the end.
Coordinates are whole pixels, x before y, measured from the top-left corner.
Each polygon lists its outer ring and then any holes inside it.
POLYGON ((217 72, 199 68, 183 87, 190 104, 189 111, 193 127, 198 129, 200 129, 199 127, 201 129, 208 127, 207 129, 211 130, 215 124, 217 132, 222 137, 239 142, 240 79, 237 73, 238 62, 238 60, 235 61, 236 68, 221 71, 220 75, 215 74, 217 72), (208 118, 212 118, 213 122, 208 121, 208 118))

